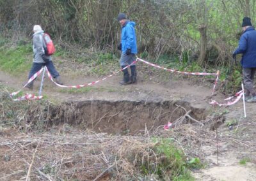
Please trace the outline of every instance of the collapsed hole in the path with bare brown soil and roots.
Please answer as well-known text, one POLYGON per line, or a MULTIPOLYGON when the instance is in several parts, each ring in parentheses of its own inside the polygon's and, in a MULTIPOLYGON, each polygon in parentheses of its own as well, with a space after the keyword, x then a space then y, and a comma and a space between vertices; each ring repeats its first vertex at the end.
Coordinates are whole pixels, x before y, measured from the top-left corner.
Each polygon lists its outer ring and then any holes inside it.
POLYGON ((49 123, 68 123, 98 133, 138 134, 163 129, 168 122, 204 126, 198 121, 205 119, 204 112, 181 101, 81 101, 49 108, 49 123))

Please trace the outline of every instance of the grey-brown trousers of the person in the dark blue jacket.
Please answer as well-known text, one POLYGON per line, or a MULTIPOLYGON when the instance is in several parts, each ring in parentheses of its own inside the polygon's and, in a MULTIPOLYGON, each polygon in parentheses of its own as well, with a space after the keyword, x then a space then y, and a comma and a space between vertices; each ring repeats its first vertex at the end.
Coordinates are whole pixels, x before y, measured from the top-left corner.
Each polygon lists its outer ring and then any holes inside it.
POLYGON ((253 89, 253 79, 254 79, 255 73, 256 73, 256 68, 243 68, 243 81, 244 81, 244 86, 247 90, 247 92, 245 92, 247 95, 255 94, 255 91, 253 89))

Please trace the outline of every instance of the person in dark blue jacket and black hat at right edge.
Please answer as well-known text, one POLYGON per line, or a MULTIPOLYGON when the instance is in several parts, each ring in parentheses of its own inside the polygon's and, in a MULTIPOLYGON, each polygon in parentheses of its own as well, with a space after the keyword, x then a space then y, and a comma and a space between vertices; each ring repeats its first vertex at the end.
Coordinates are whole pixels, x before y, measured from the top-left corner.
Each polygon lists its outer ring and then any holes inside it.
POLYGON ((243 54, 241 65, 243 67, 243 82, 246 88, 244 96, 247 102, 256 102, 256 92, 253 89, 253 79, 256 72, 256 31, 249 17, 243 18, 243 34, 239 40, 238 48, 233 52, 233 58, 237 54, 243 54))

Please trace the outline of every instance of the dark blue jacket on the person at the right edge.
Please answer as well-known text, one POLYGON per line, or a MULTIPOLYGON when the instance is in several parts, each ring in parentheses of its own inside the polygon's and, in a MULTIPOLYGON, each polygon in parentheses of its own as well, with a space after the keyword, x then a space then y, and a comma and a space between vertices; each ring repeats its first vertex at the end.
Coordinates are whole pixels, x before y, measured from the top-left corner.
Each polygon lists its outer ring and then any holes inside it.
POLYGON ((243 68, 256 68, 256 31, 254 27, 248 27, 244 31, 234 54, 243 54, 241 59, 243 68))

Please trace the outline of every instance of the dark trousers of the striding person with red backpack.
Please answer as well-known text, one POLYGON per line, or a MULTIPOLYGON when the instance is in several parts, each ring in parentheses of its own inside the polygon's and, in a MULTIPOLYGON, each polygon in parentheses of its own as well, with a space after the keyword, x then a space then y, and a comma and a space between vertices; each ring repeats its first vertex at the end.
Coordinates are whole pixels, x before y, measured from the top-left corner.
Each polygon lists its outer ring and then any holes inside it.
POLYGON ((31 76, 33 76, 36 72, 38 72, 43 66, 47 67, 47 69, 49 70, 49 72, 51 73, 53 78, 56 78, 56 77, 60 76, 58 71, 56 71, 52 61, 49 61, 49 62, 46 62, 46 63, 43 63, 43 64, 38 64, 38 63, 33 62, 33 65, 30 69, 28 78, 31 78, 31 76))

